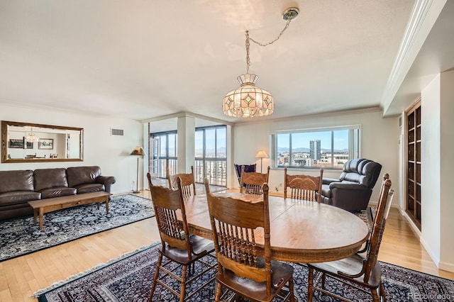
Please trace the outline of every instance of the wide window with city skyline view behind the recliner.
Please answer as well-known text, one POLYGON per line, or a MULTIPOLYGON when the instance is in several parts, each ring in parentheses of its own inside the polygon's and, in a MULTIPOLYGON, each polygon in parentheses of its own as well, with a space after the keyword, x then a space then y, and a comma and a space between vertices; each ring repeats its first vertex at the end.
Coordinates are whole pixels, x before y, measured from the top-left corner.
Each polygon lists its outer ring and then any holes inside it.
POLYGON ((360 157, 360 126, 282 131, 271 134, 275 167, 342 169, 360 157))

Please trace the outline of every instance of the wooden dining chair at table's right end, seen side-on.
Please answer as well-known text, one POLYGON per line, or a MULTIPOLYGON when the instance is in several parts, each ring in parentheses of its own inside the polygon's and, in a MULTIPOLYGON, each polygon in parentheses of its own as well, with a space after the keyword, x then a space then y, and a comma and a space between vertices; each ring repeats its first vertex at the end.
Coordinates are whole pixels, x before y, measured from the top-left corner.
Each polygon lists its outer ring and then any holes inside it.
POLYGON ((377 204, 377 213, 375 214, 374 226, 370 236, 370 243, 367 245, 366 255, 359 253, 345 259, 326 262, 308 264, 309 267, 309 286, 308 286, 308 301, 314 298, 314 292, 320 291, 328 296, 348 301, 345 297, 331 293, 325 288, 326 276, 341 281, 346 286, 353 286, 354 289, 365 291, 368 289, 372 295, 373 301, 386 301, 386 293, 382 283, 382 271, 380 262, 377 261, 380 242, 384 231, 384 225, 387 220, 389 208, 391 208, 392 196, 394 191, 390 189, 391 180, 385 179, 380 189, 380 197, 377 204), (319 272, 319 276, 314 281, 315 272, 319 272), (321 279, 321 281, 319 280, 321 279), (321 287, 316 286, 321 283, 321 287))

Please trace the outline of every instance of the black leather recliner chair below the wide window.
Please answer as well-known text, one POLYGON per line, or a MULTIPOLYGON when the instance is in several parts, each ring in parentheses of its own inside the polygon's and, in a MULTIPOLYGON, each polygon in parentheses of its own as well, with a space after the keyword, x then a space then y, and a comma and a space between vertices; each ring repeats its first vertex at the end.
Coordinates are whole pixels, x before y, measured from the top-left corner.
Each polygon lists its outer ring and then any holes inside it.
POLYGON ((323 178, 321 202, 350 212, 365 210, 381 169, 365 158, 345 162, 339 179, 323 178))

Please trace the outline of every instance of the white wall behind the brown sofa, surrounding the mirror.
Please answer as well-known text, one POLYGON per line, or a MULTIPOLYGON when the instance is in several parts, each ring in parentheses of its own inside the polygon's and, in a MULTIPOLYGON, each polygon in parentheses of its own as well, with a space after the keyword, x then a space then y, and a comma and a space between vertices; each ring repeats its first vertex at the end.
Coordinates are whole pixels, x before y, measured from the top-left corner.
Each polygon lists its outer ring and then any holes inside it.
MULTIPOLYGON (((103 175, 116 177, 112 193, 131 191, 132 181, 137 177, 137 159, 130 153, 135 146, 143 144, 143 126, 138 121, 3 104, 0 104, 0 120, 84 128, 82 162, 0 163, 0 170, 96 165, 101 167, 103 175), (123 129, 124 135, 110 135, 111 128, 123 129)), ((140 181, 139 188, 141 186, 140 181)))

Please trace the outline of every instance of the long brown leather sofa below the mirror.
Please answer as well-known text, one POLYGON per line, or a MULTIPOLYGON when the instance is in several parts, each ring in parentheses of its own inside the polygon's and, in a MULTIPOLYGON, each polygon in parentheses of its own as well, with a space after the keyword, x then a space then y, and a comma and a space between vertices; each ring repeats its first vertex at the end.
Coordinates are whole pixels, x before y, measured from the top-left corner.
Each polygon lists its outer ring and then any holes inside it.
POLYGON ((101 176, 97 166, 0 171, 0 220, 33 215, 27 201, 96 191, 111 193, 115 181, 115 177, 101 176))

